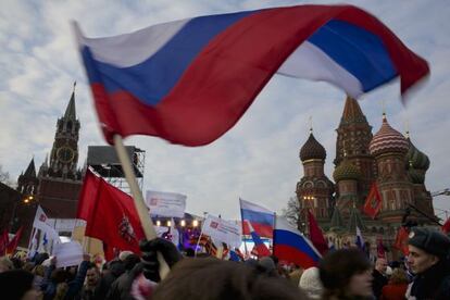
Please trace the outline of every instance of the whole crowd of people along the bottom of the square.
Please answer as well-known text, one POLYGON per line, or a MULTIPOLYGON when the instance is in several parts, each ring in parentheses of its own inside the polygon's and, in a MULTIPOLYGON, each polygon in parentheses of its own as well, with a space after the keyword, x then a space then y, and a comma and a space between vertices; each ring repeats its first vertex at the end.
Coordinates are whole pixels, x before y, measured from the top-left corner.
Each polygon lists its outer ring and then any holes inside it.
POLYGON ((403 261, 374 264, 358 248, 329 251, 302 270, 275 257, 241 262, 182 254, 162 238, 140 243, 98 265, 85 255, 78 266, 57 267, 58 258, 0 258, 1 299, 450 299, 450 239, 414 227, 403 261), (161 279, 157 253, 171 267, 161 279))

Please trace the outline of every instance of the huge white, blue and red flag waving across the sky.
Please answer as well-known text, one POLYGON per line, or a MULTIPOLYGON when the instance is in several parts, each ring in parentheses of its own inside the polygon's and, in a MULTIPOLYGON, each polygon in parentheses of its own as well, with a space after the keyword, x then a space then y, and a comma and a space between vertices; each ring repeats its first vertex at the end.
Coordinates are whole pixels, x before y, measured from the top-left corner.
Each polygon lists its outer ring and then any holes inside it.
POLYGON ((78 48, 109 142, 143 134, 207 145, 225 134, 275 74, 328 82, 357 98, 429 73, 373 15, 352 5, 297 5, 153 25, 78 48))

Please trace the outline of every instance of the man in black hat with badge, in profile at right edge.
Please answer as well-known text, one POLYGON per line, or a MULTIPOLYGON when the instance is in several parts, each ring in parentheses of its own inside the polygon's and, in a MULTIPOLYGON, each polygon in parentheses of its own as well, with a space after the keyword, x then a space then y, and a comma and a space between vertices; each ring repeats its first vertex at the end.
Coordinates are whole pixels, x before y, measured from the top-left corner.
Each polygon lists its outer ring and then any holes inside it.
POLYGON ((415 277, 407 299, 450 299, 450 239, 435 229, 413 227, 408 243, 415 277))

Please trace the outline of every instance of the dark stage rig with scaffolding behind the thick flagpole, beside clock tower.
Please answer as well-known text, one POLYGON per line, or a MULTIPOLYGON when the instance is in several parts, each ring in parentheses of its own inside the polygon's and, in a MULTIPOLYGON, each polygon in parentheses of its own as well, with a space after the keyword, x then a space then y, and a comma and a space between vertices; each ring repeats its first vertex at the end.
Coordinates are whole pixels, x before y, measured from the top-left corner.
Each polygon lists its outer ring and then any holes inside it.
MULTIPOLYGON (((136 179, 140 190, 143 185, 143 168, 146 164, 146 151, 134 146, 126 146, 126 152, 132 161, 136 179)), ((114 147, 112 146, 89 146, 87 154, 87 165, 92 167, 108 183, 130 193, 128 183, 125 179, 125 173, 117 158, 114 147)))

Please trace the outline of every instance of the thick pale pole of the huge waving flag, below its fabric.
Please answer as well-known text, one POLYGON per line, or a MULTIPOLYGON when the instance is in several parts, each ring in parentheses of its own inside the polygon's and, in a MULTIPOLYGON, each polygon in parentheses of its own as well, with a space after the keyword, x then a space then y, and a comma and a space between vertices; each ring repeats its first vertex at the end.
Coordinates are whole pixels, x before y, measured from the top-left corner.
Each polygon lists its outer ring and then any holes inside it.
MULTIPOLYGON (((125 173, 125 178, 129 185, 136 211, 139 215, 140 224, 142 224, 142 229, 146 234, 146 238, 147 240, 154 239, 157 238, 157 232, 154 230, 153 223, 150 221, 148 209, 143 203, 142 193, 137 184, 135 172, 132 167, 132 162, 128 158, 124 142, 120 135, 114 135, 114 148, 117 153, 118 160, 121 161, 122 168, 125 173)), ((157 252, 157 254, 158 262, 160 263, 160 277, 161 279, 164 279, 171 270, 168 268, 167 263, 164 261, 164 258, 161 254, 161 252, 157 252)))

